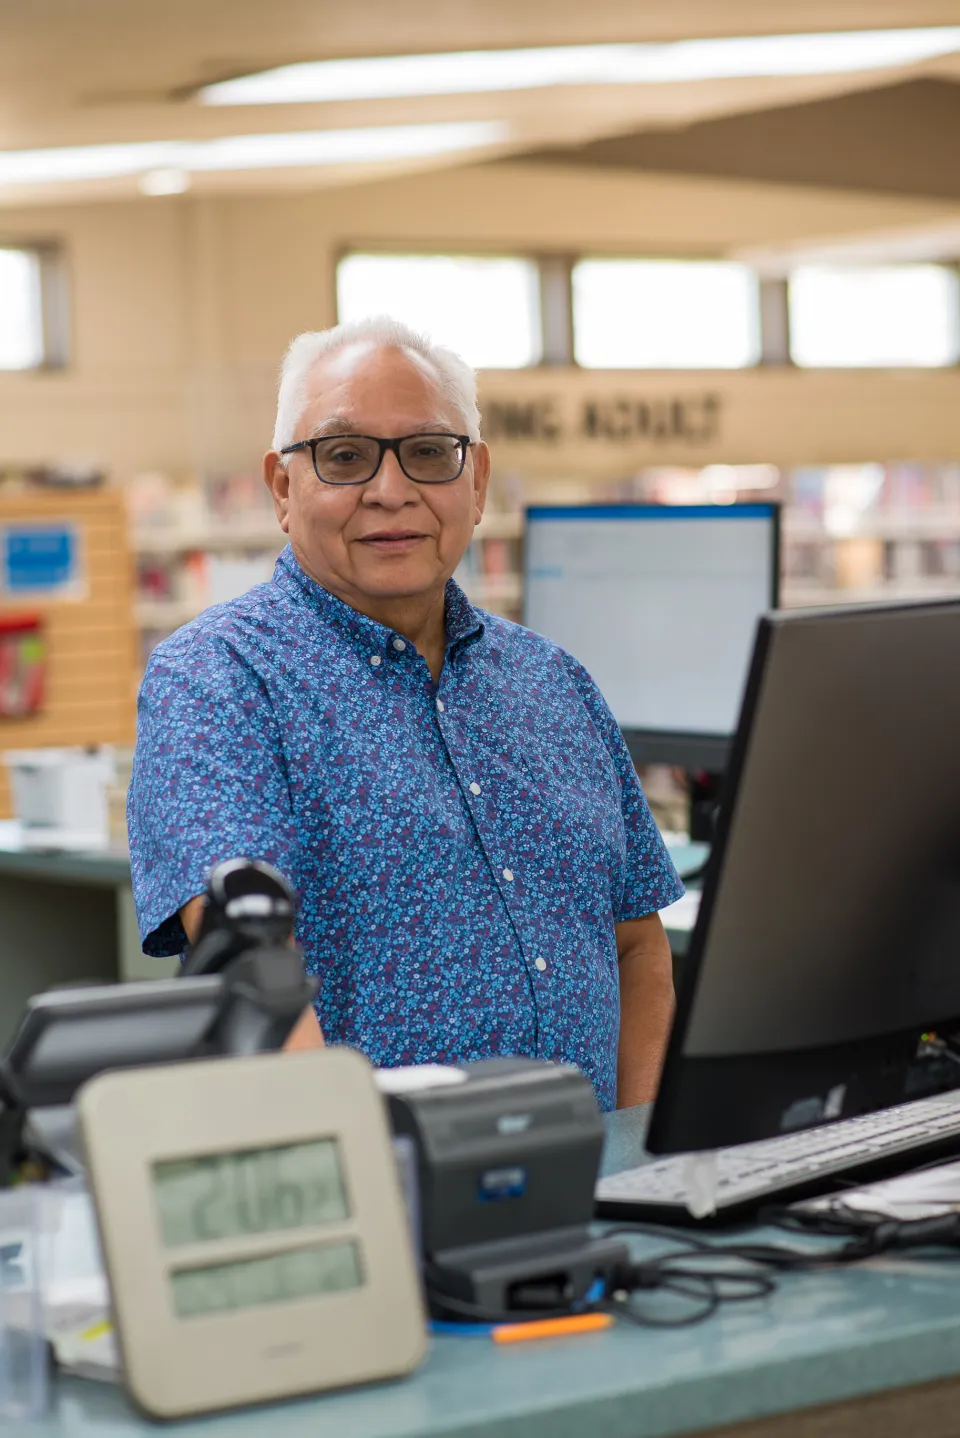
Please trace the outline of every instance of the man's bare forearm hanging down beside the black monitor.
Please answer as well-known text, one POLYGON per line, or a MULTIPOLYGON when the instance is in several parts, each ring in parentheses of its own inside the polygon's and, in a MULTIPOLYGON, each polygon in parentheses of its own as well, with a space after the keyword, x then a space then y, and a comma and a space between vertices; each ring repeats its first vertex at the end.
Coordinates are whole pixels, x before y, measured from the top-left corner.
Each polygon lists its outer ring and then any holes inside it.
POLYGON ((617 1107, 651 1103, 674 1015, 670 942, 658 913, 617 925, 619 1048, 617 1107))

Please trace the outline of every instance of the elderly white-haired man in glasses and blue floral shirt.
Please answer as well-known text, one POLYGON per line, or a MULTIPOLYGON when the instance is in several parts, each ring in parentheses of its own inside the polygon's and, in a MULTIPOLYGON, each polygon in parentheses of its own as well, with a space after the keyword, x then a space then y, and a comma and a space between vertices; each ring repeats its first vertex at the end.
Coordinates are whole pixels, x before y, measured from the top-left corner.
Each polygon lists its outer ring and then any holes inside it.
POLYGON ((451 580, 489 472, 450 351, 384 319, 293 341, 264 459, 290 542, 139 695, 144 949, 183 949, 213 864, 264 858, 299 893, 329 1041, 566 1060, 602 1107, 641 1103, 673 1011, 657 910, 683 887, 585 670, 451 580))

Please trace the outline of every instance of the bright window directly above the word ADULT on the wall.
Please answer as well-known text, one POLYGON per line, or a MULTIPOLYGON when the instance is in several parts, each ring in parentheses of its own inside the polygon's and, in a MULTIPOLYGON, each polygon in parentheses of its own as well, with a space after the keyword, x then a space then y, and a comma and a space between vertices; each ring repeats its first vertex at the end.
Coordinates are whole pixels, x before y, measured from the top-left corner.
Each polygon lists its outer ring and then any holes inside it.
POLYGON ((756 276, 724 260, 581 260, 573 354, 589 370, 740 370, 760 358, 756 276))

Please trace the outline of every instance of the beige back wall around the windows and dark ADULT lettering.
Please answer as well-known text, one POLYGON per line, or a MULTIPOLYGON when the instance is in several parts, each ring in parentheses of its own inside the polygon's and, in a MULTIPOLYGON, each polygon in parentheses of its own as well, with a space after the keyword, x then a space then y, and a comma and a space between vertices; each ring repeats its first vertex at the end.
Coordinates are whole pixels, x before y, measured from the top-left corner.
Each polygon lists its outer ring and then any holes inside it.
MULTIPOLYGON (((0 242, 62 240, 73 358, 0 374, 0 464, 95 457, 125 477, 259 462, 289 338, 333 321, 333 267, 349 246, 736 253, 897 230, 959 207, 861 194, 525 164, 434 171, 269 198, 188 196, 0 210, 0 242)), ((944 457, 960 452, 957 375, 490 375, 490 397, 720 388, 701 459, 944 457), (954 417, 951 417, 954 416, 954 417), (734 418, 736 417, 736 418, 734 418)), ((614 446, 619 466, 688 446, 614 446)), ((509 462, 532 454, 510 450, 509 462)), ((565 454, 591 462, 596 446, 565 454)), ((506 450, 504 450, 506 456, 506 450)), ((546 452, 545 464, 556 463, 546 452)))

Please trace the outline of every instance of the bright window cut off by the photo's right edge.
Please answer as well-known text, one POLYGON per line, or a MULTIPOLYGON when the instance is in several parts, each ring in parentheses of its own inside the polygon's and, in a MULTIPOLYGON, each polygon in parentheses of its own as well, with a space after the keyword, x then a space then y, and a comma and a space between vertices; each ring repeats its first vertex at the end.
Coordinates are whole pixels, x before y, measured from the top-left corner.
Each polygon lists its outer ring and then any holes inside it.
POLYGON ((949 365, 960 360, 960 285, 941 265, 805 266, 790 276, 799 365, 949 365))

